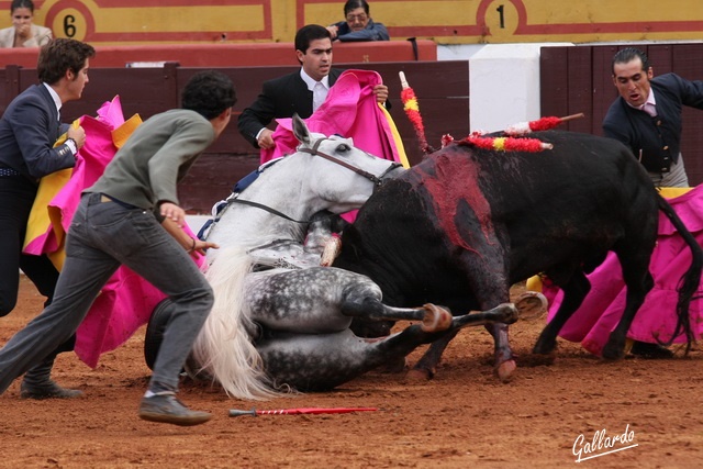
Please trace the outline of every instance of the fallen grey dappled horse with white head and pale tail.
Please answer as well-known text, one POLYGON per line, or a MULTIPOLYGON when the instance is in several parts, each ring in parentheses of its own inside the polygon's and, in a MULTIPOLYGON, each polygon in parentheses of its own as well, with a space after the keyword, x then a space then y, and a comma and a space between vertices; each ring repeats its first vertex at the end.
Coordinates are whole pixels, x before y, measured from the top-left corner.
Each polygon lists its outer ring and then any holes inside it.
MULTIPOLYGON (((298 152, 233 193, 208 233, 208 241, 220 245, 209 250, 205 270, 215 304, 189 360, 193 375, 208 376, 242 399, 267 399, 289 389, 326 390, 404 357, 439 331, 516 320, 515 305, 507 303, 454 321, 432 304, 389 308, 368 277, 309 267, 320 264, 320 245, 303 246, 308 223, 301 222, 322 210, 359 208, 397 165, 355 148, 350 139, 310 134, 301 120, 293 122, 298 152), (278 263, 308 268, 270 268, 278 263), (263 265, 269 268, 260 269, 263 265), (354 316, 422 324, 368 340, 349 332, 354 316)), ((315 225, 332 231, 332 223, 323 215, 315 225)), ((539 299, 522 304, 543 306, 539 299)), ((157 306, 149 322, 147 362, 155 360, 168 321, 163 310, 157 306)))

